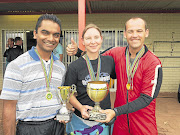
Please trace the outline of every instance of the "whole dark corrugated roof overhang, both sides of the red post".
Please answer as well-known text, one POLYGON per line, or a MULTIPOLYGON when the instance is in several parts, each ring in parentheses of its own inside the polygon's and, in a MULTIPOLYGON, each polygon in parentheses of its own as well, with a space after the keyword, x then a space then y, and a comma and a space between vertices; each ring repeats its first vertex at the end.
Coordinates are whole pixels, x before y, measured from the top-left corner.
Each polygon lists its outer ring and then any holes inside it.
MULTIPOLYGON (((10 1, 10 0, 9 0, 10 1)), ((12 0, 13 1, 13 0, 12 0)), ((78 13, 78 0, 0 2, 0 14, 78 13)), ((33 0, 34 1, 34 0, 33 0)), ((180 13, 180 1, 87 0, 86 13, 180 13), (89 7, 88 7, 89 2, 89 7), (89 12, 91 11, 91 12, 89 12)))

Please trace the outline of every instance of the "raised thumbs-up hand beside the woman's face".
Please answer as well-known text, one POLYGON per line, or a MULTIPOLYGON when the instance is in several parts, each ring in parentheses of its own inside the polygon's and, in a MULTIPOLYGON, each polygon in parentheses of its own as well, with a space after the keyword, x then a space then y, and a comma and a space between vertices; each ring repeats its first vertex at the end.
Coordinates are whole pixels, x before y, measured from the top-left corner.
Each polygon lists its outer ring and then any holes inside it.
POLYGON ((67 55, 73 56, 77 53, 77 51, 78 51, 77 43, 73 40, 73 38, 71 38, 71 44, 68 44, 68 46, 66 47, 67 55))

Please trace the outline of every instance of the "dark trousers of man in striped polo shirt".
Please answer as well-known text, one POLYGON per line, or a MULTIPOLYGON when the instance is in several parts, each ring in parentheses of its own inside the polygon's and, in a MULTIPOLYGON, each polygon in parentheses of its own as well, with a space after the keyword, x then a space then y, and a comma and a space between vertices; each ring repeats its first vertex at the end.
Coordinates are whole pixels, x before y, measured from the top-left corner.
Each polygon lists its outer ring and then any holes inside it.
POLYGON ((54 119, 18 121, 16 135, 64 135, 64 124, 54 119))

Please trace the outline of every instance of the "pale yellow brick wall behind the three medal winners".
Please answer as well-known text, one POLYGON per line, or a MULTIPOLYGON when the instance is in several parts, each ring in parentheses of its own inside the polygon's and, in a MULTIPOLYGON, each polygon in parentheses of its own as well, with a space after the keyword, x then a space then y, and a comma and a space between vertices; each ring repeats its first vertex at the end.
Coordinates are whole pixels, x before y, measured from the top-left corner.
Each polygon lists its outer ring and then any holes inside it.
MULTIPOLYGON (((78 15, 57 15, 62 22, 62 29, 77 29, 78 15)), ((86 23, 94 23, 101 29, 124 29, 124 23, 131 17, 142 17, 147 21, 150 35, 145 43, 157 56, 180 56, 180 44, 155 43, 154 41, 180 41, 180 14, 87 14, 86 23), (173 37, 173 38, 172 38, 173 37), (172 51, 177 52, 170 52, 172 51)), ((0 67, 2 67, 2 30, 33 30, 39 15, 3 15, 0 16, 0 67)), ((180 83, 180 58, 161 58, 163 84, 161 92, 177 92, 180 83), (170 68, 172 67, 172 68, 170 68), (178 67, 178 68, 176 68, 178 67)), ((1 68, 2 69, 2 68, 1 68)), ((0 70, 0 89, 3 73, 0 70)))

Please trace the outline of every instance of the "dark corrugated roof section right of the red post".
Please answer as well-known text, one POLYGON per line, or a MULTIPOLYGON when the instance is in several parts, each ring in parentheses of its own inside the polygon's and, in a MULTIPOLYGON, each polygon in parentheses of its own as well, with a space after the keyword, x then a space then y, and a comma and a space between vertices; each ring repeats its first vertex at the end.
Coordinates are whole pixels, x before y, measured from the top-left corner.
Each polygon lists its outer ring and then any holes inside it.
POLYGON ((180 1, 91 1, 92 13, 98 12, 168 12, 180 10, 180 1), (176 7, 176 8, 174 8, 176 7))

